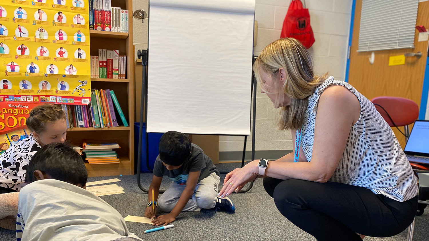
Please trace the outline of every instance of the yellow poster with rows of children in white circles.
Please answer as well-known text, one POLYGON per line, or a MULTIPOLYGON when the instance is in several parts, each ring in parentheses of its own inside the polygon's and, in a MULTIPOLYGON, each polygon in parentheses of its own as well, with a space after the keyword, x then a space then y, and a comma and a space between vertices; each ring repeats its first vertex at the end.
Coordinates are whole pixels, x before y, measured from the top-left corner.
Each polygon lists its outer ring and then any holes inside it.
POLYGON ((88 104, 88 0, 1 0, 0 102, 88 104))

